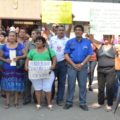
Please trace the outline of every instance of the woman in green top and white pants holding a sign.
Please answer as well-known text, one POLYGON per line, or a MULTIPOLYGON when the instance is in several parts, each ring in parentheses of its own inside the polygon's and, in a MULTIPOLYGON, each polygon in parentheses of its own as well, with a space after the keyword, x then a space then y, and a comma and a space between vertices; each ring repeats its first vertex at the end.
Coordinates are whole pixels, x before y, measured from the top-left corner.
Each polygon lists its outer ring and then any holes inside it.
MULTIPOLYGON (((51 70, 53 70, 56 66, 56 57, 55 52, 51 49, 47 49, 45 47, 46 40, 44 37, 37 37, 35 40, 36 48, 30 50, 27 56, 26 60, 26 70, 28 68, 28 62, 29 61, 51 61, 52 60, 52 66, 51 70)), ((29 68, 28 68, 29 69, 29 68)), ((48 108, 52 108, 51 103, 51 88, 54 81, 54 73, 50 73, 49 79, 39 79, 39 80, 31 80, 33 87, 35 89, 35 95, 37 98, 37 109, 40 109, 41 107, 41 94, 42 90, 46 92, 46 98, 48 103, 48 108)))

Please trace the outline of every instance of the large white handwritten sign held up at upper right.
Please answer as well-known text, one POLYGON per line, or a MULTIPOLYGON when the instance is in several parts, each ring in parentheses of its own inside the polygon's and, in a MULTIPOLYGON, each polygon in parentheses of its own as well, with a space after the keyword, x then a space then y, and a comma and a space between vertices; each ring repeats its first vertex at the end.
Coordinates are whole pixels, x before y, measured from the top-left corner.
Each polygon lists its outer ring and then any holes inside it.
POLYGON ((90 33, 119 35, 120 34, 119 11, 120 5, 118 4, 106 4, 106 5, 102 4, 98 8, 91 8, 90 33))

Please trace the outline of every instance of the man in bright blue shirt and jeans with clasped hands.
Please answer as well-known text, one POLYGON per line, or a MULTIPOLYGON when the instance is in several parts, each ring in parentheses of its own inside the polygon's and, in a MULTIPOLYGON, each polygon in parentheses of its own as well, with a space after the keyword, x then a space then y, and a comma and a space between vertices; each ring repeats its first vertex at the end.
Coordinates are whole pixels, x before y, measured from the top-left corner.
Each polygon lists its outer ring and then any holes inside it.
POLYGON ((80 108, 88 111, 86 104, 87 62, 93 54, 90 41, 82 38, 84 28, 81 25, 74 27, 76 37, 69 40, 65 47, 65 59, 68 62, 68 93, 64 109, 73 104, 76 78, 79 85, 80 108))

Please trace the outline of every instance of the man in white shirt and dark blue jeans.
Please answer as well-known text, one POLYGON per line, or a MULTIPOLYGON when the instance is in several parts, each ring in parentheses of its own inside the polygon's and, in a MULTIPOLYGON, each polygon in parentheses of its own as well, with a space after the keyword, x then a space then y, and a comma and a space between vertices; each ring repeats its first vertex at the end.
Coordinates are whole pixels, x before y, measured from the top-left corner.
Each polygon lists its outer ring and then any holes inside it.
POLYGON ((55 51, 57 57, 55 75, 58 79, 58 91, 56 98, 56 103, 58 105, 62 105, 65 90, 67 66, 64 60, 64 48, 67 41, 68 38, 65 35, 65 27, 63 25, 59 25, 57 35, 50 39, 50 47, 55 51))

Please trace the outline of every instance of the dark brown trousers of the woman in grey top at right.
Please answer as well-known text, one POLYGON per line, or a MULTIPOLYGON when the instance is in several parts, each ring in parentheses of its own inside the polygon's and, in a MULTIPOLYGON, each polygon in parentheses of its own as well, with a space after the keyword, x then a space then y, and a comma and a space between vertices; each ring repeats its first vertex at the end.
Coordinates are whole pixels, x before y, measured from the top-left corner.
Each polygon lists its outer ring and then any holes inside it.
POLYGON ((98 103, 104 104, 104 90, 106 86, 107 104, 113 105, 114 99, 115 70, 108 73, 98 71, 98 103))

